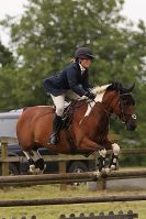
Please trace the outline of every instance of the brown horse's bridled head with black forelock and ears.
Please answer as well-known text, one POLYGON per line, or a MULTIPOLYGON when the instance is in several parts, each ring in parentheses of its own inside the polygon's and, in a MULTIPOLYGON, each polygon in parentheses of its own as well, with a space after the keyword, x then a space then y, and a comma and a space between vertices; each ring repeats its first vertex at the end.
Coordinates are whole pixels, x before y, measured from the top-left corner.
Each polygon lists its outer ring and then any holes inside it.
POLYGON ((132 96, 132 90, 135 84, 130 88, 123 88, 120 83, 112 83, 103 97, 103 102, 108 101, 106 107, 112 110, 120 120, 125 123, 127 130, 136 129, 135 100, 132 96))

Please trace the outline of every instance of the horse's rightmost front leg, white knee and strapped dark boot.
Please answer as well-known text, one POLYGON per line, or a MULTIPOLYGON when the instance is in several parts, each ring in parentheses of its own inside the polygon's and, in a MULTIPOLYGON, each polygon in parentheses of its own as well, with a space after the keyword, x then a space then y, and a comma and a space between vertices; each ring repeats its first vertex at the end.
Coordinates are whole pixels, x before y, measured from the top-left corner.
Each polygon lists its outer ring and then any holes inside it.
POLYGON ((111 157, 110 165, 109 165, 110 171, 114 171, 114 169, 117 168, 120 145, 116 144, 116 143, 113 143, 112 144, 112 151, 113 151, 113 153, 112 153, 112 157, 111 157))

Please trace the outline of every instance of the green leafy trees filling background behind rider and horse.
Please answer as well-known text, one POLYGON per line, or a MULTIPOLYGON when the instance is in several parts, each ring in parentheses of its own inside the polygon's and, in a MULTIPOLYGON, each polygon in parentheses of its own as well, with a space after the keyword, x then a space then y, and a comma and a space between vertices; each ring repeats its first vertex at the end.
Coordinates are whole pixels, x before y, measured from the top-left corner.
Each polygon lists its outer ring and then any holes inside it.
POLYGON ((137 130, 126 132, 111 121, 122 145, 145 146, 146 26, 121 15, 124 0, 29 0, 21 19, 7 17, 10 47, 0 43, 0 110, 47 105, 42 81, 70 63, 75 50, 89 46, 97 55, 92 85, 136 83, 137 130))

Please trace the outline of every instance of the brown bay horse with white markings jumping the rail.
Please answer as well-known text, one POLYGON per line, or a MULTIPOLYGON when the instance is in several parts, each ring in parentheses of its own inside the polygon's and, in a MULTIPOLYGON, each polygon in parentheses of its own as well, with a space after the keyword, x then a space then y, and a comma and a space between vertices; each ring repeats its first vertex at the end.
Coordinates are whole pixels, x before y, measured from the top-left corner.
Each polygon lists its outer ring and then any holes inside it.
POLYGON ((24 109, 18 120, 16 134, 29 161, 30 172, 36 174, 44 169, 44 160, 37 151, 38 147, 46 147, 57 154, 99 152, 99 172, 105 167, 106 150, 112 150, 109 168, 115 169, 120 146, 108 138, 109 120, 112 114, 115 114, 127 130, 135 130, 135 100, 131 94, 134 85, 123 88, 121 83, 93 88, 94 101, 82 99, 78 101, 80 107, 74 111, 69 128, 60 130, 57 145, 47 144, 53 131, 54 108, 35 106, 24 109))

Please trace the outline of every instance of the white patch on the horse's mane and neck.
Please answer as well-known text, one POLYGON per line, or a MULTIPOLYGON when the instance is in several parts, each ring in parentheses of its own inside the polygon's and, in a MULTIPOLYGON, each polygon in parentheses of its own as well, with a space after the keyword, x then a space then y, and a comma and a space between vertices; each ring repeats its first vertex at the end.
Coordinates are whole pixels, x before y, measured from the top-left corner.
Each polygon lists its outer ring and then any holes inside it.
POLYGON ((105 92, 105 90, 109 86, 110 86, 110 84, 103 85, 103 86, 98 86, 98 87, 92 89, 92 92, 96 95, 96 99, 94 99, 94 101, 88 103, 88 108, 87 108, 87 111, 85 113, 85 117, 88 117, 90 114, 90 111, 93 108, 93 106, 96 105, 96 102, 102 102, 104 92, 105 92))

